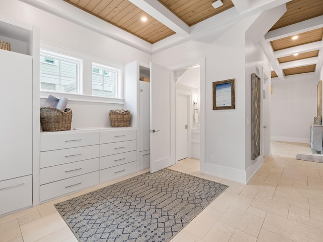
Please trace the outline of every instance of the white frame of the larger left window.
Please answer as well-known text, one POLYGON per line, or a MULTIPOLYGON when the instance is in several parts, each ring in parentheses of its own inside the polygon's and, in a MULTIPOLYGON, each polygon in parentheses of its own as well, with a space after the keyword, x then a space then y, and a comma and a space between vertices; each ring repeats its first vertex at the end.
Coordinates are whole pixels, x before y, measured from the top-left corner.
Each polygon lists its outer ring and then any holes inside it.
MULTIPOLYGON (((70 56, 70 55, 66 55, 66 54, 53 52, 53 51, 50 51, 50 50, 45 50, 45 49, 40 49, 40 55, 44 55, 45 57, 60 59, 62 61, 67 61, 67 62, 72 62, 72 63, 77 64, 76 93, 71 93, 71 94, 81 94, 81 95, 83 94, 83 60, 82 59, 76 58, 76 57, 73 57, 73 56, 70 56)), ((42 62, 42 63, 57 66, 57 63, 48 63, 48 62, 42 62)), ((42 90, 42 89, 40 89, 40 91, 70 94, 69 92, 52 91, 52 90, 42 90)))

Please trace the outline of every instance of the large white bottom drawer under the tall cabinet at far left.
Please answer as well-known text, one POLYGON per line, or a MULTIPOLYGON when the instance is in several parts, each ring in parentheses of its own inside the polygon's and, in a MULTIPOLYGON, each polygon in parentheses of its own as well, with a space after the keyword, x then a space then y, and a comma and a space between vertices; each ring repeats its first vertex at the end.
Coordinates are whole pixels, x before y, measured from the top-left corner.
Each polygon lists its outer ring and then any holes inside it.
POLYGON ((0 181, 0 215, 32 205, 32 175, 0 181))

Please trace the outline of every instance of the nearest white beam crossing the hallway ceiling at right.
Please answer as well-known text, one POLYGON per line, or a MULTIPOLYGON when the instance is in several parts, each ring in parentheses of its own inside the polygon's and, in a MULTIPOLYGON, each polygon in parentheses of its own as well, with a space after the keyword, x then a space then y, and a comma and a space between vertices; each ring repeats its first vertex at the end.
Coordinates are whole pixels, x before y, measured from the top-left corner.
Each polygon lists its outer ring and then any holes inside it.
POLYGON ((323 15, 308 19, 296 24, 292 24, 283 28, 269 31, 265 34, 264 38, 267 42, 282 39, 288 36, 304 33, 314 29, 323 27, 323 15))

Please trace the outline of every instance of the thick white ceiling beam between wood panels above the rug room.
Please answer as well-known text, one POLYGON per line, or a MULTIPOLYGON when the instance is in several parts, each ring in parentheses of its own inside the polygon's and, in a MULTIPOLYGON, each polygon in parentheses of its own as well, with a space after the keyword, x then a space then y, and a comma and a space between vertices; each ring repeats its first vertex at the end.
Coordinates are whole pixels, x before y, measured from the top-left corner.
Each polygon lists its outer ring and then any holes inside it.
POLYGON ((190 28, 175 14, 168 10, 163 4, 157 0, 129 0, 138 8, 153 16, 160 23, 163 23, 174 32, 178 33, 182 37, 189 36, 190 28))

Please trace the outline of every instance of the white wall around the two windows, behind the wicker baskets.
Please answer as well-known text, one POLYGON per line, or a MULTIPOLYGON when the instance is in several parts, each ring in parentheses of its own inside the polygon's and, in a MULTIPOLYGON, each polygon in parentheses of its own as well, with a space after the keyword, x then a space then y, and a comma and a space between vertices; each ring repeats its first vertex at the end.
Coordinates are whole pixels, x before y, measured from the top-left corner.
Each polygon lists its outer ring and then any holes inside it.
MULTIPOLYGON (((36 25, 40 29, 42 46, 60 49, 63 53, 75 52, 82 55, 84 63, 90 66, 93 59, 102 64, 106 62, 125 65, 132 61, 149 63, 151 55, 133 47, 110 39, 84 27, 51 15, 18 0, 0 0, 0 14, 11 19, 36 25), (126 54, 125 54, 126 53, 126 54)), ((87 72, 89 73, 89 72, 87 72)), ((89 93, 91 78, 84 75, 85 93, 89 93)), ((58 97, 60 94, 57 95, 58 97)), ((109 100, 97 101, 91 97, 76 97, 69 101, 72 108, 72 127, 101 127, 110 125, 107 120, 110 109, 120 109, 122 104, 106 103, 109 100), (78 101, 77 99, 82 99, 78 101), (91 100, 91 101, 89 101, 91 100)), ((44 100, 41 100, 41 105, 44 100)))

